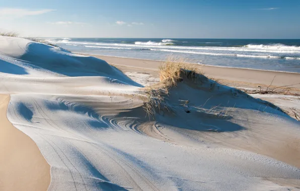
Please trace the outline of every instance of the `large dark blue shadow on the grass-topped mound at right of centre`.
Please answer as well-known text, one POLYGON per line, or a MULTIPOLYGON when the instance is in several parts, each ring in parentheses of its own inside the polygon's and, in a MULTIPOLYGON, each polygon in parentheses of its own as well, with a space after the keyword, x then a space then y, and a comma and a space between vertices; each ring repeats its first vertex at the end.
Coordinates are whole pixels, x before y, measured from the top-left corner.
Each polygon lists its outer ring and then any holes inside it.
POLYGON ((118 116, 134 117, 139 114, 141 123, 156 121, 162 126, 210 132, 245 130, 246 127, 237 124, 236 120, 247 121, 247 112, 250 112, 250 115, 277 115, 294 120, 270 102, 253 98, 237 88, 220 84, 205 76, 204 78, 202 84, 180 82, 171 87, 168 94, 163 94, 169 111, 156 108, 155 116, 148 116, 142 107, 139 107, 118 116))

